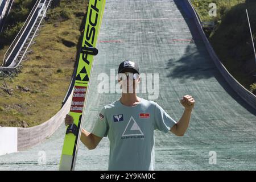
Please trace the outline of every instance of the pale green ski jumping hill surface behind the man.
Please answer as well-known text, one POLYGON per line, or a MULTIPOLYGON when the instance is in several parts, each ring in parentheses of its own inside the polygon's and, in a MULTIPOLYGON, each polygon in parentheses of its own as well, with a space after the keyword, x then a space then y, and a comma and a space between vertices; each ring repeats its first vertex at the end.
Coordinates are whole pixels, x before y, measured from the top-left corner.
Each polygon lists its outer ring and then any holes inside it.
MULTIPOLYGON (((90 131, 102 106, 119 98, 118 93, 98 93, 98 75, 110 75, 110 69, 117 73, 122 60, 134 60, 142 73, 159 74, 154 101, 176 121, 183 113, 180 98, 191 94, 196 100, 184 137, 155 131, 156 170, 255 170, 256 110, 246 101, 247 92, 238 95, 232 78, 223 76, 199 23, 187 0, 106 1, 84 127, 90 131), (216 164, 209 163, 213 154, 216 164)), ((64 133, 62 123, 44 142, 0 156, 0 169, 57 170, 64 133)), ((106 170, 108 155, 107 138, 92 151, 81 144, 76 169, 106 170)))

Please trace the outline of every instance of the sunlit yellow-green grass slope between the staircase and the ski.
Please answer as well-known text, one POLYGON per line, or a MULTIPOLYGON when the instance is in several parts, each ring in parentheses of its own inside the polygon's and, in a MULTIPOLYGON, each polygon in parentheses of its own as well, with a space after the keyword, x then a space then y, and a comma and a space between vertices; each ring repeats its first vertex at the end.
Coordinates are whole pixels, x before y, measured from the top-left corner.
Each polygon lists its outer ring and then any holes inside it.
MULTIPOLYGON (((23 62, 22 72, 12 82, 6 78, 12 94, 0 89, 0 126, 39 125, 60 110, 73 73, 87 4, 65 0, 48 11, 47 22, 34 39, 36 44, 31 46, 33 52, 23 62), (65 46, 63 40, 71 46, 65 46)), ((0 58, 7 48, 0 50, 0 58)))

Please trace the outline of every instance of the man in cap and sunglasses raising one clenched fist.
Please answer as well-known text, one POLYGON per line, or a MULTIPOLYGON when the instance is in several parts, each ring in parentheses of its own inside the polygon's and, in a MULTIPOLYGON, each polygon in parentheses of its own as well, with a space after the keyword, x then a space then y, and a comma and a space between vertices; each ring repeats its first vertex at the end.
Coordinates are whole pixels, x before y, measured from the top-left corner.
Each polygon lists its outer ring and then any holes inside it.
MULTIPOLYGON (((123 61, 119 65, 118 82, 122 84, 121 98, 104 106, 92 133, 82 129, 81 142, 92 150, 108 136, 109 170, 154 170, 154 130, 183 136, 195 100, 189 95, 180 100, 185 109, 176 123, 158 104, 137 96, 135 90, 140 78, 136 63, 123 61)), ((67 115, 65 125, 72 123, 72 117, 67 115)))

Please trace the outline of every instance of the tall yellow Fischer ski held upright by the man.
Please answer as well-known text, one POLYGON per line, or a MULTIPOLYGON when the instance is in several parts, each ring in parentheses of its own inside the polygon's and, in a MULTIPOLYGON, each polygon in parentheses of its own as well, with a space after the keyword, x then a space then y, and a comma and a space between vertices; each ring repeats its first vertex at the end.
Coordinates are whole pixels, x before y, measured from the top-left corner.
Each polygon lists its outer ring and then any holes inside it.
POLYGON ((100 32, 105 0, 89 0, 86 13, 84 37, 77 65, 76 81, 72 104, 69 111, 74 119, 73 125, 67 127, 60 159, 60 170, 75 170, 76 154, 79 147, 82 113, 86 104, 86 95, 92 73, 93 57, 97 55, 96 43, 100 32))

